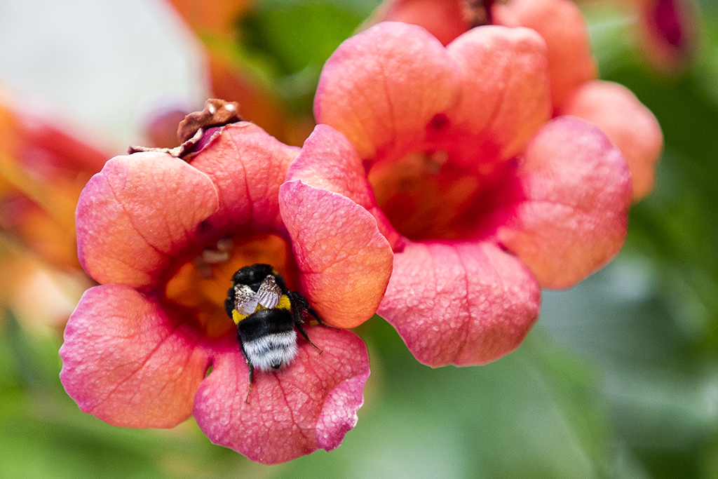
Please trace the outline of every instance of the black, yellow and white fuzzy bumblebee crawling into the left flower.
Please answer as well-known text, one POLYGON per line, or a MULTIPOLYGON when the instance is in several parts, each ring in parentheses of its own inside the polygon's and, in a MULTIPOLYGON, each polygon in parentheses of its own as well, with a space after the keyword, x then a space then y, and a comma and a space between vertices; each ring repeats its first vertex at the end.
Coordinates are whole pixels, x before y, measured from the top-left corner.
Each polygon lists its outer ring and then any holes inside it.
MULTIPOLYGON (((269 264, 244 266, 232 276, 225 310, 237 325, 237 339, 249 367, 249 389, 254 368, 262 371, 287 366, 297 355, 297 330, 309 340, 302 323, 311 315, 320 325, 324 322, 299 292, 290 291, 281 274, 269 264)), ((309 318, 311 319, 311 318, 309 318)))

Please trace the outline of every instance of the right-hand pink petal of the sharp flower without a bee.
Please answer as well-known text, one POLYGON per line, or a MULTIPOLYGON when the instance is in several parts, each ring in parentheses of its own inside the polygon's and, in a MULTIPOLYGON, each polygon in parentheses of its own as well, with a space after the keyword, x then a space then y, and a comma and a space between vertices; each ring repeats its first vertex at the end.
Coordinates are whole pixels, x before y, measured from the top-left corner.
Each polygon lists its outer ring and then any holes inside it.
POLYGON ((526 148, 525 200, 498 238, 541 287, 567 288, 600 269, 625 241, 631 182, 621 152, 592 124, 559 116, 526 148))

